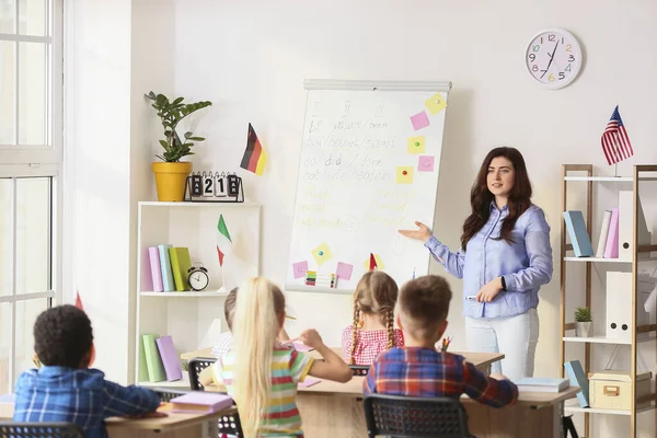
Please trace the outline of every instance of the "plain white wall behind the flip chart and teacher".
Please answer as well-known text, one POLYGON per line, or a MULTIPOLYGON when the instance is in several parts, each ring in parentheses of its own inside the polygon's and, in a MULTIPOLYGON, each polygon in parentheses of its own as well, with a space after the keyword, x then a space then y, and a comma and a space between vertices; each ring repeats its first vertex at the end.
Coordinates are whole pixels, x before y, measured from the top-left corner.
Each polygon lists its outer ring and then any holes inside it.
MULTIPOLYGON (((262 178, 245 175, 246 195, 264 204, 263 274, 283 279, 303 126, 303 80, 451 80, 435 232, 456 247, 469 212, 470 186, 485 153, 498 145, 522 151, 534 201, 546 211, 553 230, 555 273, 541 291, 537 355, 537 374, 553 376, 560 369, 561 164, 592 163, 599 174, 612 172, 599 138, 616 103, 636 153, 619 165, 619 173, 657 161, 655 16, 657 3, 646 0, 622 5, 611 0, 177 0, 175 92, 215 103, 198 123, 198 134, 208 141, 197 149, 197 169, 237 169, 246 125, 254 124, 269 164, 262 178), (523 66, 530 37, 554 26, 573 32, 586 54, 580 77, 561 91, 543 90, 523 66)), ((604 189, 597 193, 602 196, 604 189)), ((434 265, 433 272, 443 270, 434 265)), ((451 284, 461 290, 460 281, 451 284)), ((331 344, 339 341, 350 315, 348 297, 290 293, 289 304, 299 316, 291 332, 313 325, 331 344)), ((456 349, 464 348, 460 312, 457 299, 449 330, 456 349)), ((652 425, 652 415, 643 417, 652 425)), ((626 431, 629 420, 599 424, 626 431)))

